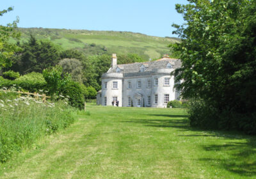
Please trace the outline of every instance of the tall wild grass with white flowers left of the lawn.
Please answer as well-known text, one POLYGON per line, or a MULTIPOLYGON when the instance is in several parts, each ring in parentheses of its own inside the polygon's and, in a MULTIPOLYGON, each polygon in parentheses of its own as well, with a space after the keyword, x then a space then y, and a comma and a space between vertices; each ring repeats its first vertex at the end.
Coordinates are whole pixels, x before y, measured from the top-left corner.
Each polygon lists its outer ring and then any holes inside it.
MULTIPOLYGON (((3 91, 0 93, 3 93, 3 91)), ((1 96, 1 95, 0 95, 1 96)), ((68 127, 76 109, 65 100, 42 102, 31 97, 0 98, 0 162, 6 162, 36 139, 68 127)))

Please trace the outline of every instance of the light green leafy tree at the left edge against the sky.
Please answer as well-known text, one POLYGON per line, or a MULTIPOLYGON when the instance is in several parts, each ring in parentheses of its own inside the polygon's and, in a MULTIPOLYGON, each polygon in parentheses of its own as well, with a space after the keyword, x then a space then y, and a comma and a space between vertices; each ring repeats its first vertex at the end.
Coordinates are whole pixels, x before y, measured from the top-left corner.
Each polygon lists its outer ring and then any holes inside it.
MULTIPOLYGON (((4 13, 12 10, 12 7, 8 8, 7 10, 2 10, 0 11, 0 16, 3 16, 4 13)), ((2 67, 12 66, 12 61, 10 58, 15 52, 20 50, 15 43, 10 43, 10 38, 20 37, 19 31, 17 31, 18 22, 19 17, 17 17, 17 20, 13 21, 12 24, 7 24, 7 26, 0 25, 0 70, 2 67)))

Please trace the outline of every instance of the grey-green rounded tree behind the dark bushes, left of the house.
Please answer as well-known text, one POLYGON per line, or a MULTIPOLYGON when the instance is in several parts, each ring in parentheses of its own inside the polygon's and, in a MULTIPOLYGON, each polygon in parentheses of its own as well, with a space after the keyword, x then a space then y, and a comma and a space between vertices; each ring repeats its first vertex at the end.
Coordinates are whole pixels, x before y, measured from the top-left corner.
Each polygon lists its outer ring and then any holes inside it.
POLYGON ((70 74, 73 81, 83 82, 83 66, 78 59, 61 59, 59 65, 63 68, 64 74, 70 74))

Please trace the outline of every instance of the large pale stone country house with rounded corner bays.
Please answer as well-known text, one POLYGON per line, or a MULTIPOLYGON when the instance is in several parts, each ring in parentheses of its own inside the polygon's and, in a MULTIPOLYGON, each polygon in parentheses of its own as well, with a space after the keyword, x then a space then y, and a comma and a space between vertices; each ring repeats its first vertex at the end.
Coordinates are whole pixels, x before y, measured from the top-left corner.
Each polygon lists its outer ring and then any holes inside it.
POLYGON ((179 68, 179 59, 167 54, 156 61, 117 65, 113 54, 112 65, 102 75, 102 89, 97 93, 98 105, 166 107, 168 101, 179 99, 179 91, 173 88, 174 77, 170 73, 179 68))

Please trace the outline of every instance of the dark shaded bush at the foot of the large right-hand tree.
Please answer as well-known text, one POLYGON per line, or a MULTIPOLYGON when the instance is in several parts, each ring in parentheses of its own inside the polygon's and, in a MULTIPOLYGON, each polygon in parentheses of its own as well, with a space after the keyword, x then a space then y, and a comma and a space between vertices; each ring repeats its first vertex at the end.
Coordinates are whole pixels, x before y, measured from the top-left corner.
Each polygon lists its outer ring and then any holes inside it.
POLYGON ((225 107, 217 109, 202 100, 192 101, 188 113, 192 127, 241 130, 246 134, 256 134, 256 113, 241 114, 225 107))

